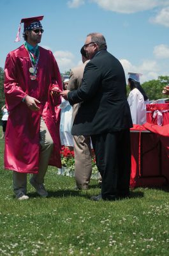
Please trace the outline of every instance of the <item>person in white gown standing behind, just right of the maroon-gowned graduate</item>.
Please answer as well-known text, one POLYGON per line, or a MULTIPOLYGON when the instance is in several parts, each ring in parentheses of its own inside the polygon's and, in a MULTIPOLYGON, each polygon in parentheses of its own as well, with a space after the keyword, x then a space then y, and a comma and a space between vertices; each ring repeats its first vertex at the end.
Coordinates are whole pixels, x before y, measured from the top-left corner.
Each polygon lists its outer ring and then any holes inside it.
MULTIPOLYGON (((68 86, 69 79, 64 79, 63 88, 66 90, 68 86)), ((62 98, 60 105, 61 108, 61 122, 60 122, 60 138, 61 145, 73 149, 73 136, 71 135, 72 127, 72 112, 73 109, 68 100, 62 98)))

